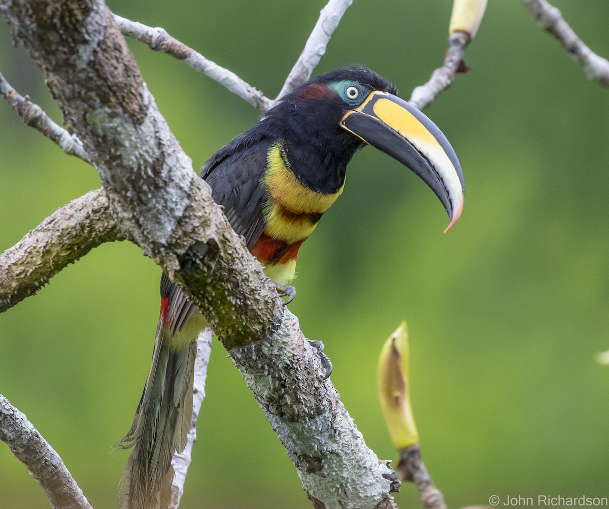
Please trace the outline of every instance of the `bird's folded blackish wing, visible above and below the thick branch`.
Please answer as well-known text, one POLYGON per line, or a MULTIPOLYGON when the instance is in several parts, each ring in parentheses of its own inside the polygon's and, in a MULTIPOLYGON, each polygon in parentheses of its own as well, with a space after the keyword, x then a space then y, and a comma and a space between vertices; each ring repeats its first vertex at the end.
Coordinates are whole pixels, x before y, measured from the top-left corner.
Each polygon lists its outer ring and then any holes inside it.
MULTIPOLYGON (((271 141, 252 132, 237 136, 211 156, 200 173, 211 186, 214 201, 224 206, 228 222, 245 238, 250 250, 266 224, 262 204, 267 192, 261 178, 271 141)), ((165 273, 161 276, 161 297, 169 297, 167 319, 175 334, 197 312, 197 306, 165 273)))

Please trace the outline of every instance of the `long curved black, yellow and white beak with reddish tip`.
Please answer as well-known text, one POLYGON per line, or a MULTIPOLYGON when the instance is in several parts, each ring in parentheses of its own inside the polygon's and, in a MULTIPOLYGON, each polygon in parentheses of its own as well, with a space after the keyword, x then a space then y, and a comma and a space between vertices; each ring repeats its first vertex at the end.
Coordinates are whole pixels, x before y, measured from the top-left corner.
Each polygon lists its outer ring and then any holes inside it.
POLYGON ((375 91, 348 111, 340 126, 421 177, 448 212, 450 223, 444 231, 452 228, 463 211, 463 172, 434 122, 400 97, 375 91))

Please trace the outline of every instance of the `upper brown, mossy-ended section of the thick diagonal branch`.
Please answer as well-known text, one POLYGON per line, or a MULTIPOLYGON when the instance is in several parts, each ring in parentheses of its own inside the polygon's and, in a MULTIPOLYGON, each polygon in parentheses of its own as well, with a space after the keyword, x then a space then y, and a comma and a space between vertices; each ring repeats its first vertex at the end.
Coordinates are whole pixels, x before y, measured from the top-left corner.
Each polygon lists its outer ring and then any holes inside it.
POLYGON ((15 2, 6 15, 95 162, 124 236, 188 288, 226 346, 266 337, 276 293, 192 170, 104 3, 15 2))

